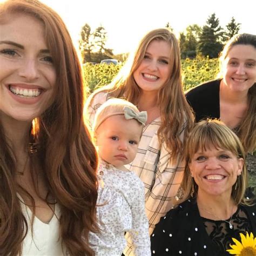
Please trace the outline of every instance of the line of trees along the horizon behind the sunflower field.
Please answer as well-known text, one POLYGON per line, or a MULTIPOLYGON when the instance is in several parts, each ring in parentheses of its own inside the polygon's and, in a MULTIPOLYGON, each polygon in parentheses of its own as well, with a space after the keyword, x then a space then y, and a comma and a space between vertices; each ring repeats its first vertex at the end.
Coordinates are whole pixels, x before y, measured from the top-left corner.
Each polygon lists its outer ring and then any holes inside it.
MULTIPOLYGON (((215 13, 208 16, 206 24, 200 27, 197 24, 187 26, 185 32, 179 33, 181 58, 195 58, 197 55, 217 58, 225 42, 239 33, 240 23, 232 17, 225 29, 221 28, 215 13)), ((165 26, 173 31, 170 23, 165 26)), ((85 24, 80 32, 79 48, 83 53, 83 62, 100 63, 107 58, 124 60, 124 56, 113 55, 113 49, 106 48, 107 32, 100 25, 95 31, 89 24, 85 24)))

